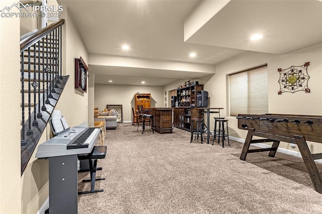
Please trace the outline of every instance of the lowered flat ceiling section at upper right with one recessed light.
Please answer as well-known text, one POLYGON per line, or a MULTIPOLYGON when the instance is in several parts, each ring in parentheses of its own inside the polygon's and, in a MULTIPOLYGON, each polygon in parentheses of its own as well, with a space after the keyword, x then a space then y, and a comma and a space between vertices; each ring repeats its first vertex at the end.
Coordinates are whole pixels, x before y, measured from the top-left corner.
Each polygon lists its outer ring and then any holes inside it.
POLYGON ((187 41, 286 54, 322 42, 322 2, 230 1, 187 41), (251 41, 256 33, 263 38, 251 41))

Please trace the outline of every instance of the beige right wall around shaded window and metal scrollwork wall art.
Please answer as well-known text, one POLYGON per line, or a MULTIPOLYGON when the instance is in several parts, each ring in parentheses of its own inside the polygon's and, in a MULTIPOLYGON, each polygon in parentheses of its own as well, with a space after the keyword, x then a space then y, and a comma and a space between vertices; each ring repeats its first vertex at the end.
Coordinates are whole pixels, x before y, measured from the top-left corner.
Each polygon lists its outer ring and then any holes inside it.
MULTIPOLYGON (((217 64, 216 74, 204 87, 209 92, 211 107, 223 107, 222 116, 228 117, 228 74, 266 63, 268 65, 269 113, 322 115, 322 87, 320 84, 322 79, 322 43, 285 55, 248 52, 217 64), (311 89, 311 93, 299 91, 278 95, 277 91, 280 87, 277 69, 303 65, 307 61, 310 62, 307 71, 310 75, 308 87, 311 89)), ((211 124, 212 130, 213 123, 211 124)), ((234 117, 229 118, 229 135, 241 139, 245 139, 247 135, 247 131, 237 128, 237 120, 234 117)), ((292 149, 288 143, 282 143, 280 148, 298 151, 297 148, 292 149)), ((322 152, 322 145, 318 143, 310 144, 309 148, 313 153, 322 152)))

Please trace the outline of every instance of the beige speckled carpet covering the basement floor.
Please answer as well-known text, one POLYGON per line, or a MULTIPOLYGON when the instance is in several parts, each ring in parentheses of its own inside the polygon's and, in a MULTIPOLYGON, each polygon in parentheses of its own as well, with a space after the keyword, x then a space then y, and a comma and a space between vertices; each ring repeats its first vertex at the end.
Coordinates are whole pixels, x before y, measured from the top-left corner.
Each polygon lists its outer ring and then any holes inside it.
MULTIPOLYGON (((78 196, 78 213, 322 213, 301 158, 268 152, 239 160, 242 143, 190 143, 190 133, 152 134, 131 124, 107 130, 96 189, 78 196)), ((318 165, 320 172, 322 165, 318 165)), ((78 174, 78 189, 89 173, 78 174)))

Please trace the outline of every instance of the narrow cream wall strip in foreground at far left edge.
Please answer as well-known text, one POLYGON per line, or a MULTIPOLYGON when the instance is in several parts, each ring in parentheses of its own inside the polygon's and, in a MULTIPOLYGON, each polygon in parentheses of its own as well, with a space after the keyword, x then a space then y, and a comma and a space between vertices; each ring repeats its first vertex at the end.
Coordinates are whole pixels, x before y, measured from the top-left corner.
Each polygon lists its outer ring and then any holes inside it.
MULTIPOLYGON (((2 0, 0 8, 17 1, 2 0)), ((12 9, 18 13, 18 9, 12 9)), ((0 18, 0 212, 20 213, 20 24, 0 18), (4 54, 5 53, 5 54, 4 54), (9 72, 8 72, 9 71, 9 72), (18 86, 18 87, 17 87, 18 86)))

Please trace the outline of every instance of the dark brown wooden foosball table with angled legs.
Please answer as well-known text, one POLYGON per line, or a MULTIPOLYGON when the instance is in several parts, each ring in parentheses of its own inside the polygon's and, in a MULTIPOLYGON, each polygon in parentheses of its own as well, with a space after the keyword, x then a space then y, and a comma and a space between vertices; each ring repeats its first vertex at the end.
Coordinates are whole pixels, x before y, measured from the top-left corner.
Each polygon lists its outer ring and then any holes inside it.
POLYGON ((308 115, 245 115, 239 114, 238 129, 248 130, 240 160, 248 153, 269 151, 274 157, 281 141, 296 144, 312 180, 315 190, 322 193, 321 174, 314 162, 322 159, 322 153, 311 154, 306 141, 322 143, 322 116, 308 115), (263 139, 252 140, 253 136, 263 139), (254 143, 273 142, 270 148, 250 149, 254 143))

